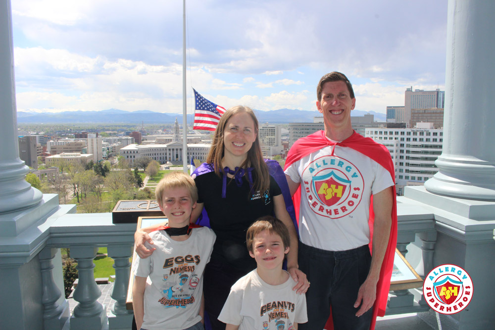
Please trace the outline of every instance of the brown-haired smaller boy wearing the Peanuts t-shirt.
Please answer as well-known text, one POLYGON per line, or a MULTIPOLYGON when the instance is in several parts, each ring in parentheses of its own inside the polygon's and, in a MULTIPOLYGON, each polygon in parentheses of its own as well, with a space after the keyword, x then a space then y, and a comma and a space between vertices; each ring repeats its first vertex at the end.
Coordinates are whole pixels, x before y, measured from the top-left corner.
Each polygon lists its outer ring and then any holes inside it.
POLYGON ((289 241, 287 227, 271 216, 247 229, 247 249, 257 268, 232 285, 218 317, 226 330, 293 330, 307 322, 306 297, 292 289, 295 282, 282 269, 289 241))

